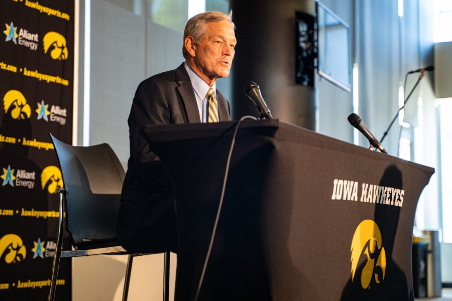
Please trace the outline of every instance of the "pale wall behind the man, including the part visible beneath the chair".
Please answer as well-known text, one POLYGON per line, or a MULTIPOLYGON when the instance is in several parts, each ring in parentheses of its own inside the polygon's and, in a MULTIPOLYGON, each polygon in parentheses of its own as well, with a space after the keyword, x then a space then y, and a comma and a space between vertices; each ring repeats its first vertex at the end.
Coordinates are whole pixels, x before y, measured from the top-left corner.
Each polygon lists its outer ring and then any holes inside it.
MULTIPOLYGON (((150 3, 134 0, 118 6, 104 0, 91 1, 89 144, 108 143, 125 168, 129 158, 127 118, 138 84, 153 74, 176 68, 183 61, 182 33, 146 17, 150 3)), ((83 133, 82 114, 84 6, 85 1, 80 1, 79 145, 83 134, 87 134, 83 133)), ((126 263, 127 255, 73 259, 72 299, 121 300, 126 263)), ((175 254, 171 255, 171 263, 170 300, 174 292, 175 254)), ((162 294, 163 254, 136 257, 128 300, 161 300, 162 294)))

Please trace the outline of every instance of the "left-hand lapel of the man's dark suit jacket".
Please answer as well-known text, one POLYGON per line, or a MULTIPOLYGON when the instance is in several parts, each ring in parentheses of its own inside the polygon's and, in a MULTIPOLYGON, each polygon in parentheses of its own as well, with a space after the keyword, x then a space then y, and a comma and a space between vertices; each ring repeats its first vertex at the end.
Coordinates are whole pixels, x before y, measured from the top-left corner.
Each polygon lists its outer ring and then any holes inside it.
POLYGON ((190 77, 187 70, 185 70, 184 63, 176 69, 176 82, 179 84, 177 91, 182 98, 182 102, 187 112, 188 123, 201 122, 199 118, 199 109, 196 98, 191 85, 190 77))

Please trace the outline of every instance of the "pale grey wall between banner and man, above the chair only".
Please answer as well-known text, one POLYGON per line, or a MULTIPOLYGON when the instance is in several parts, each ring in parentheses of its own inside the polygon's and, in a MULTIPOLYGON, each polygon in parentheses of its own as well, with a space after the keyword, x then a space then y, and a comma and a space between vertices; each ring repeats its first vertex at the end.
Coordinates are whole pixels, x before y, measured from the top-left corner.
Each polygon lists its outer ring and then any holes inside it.
POLYGON ((129 116, 138 84, 182 62, 182 30, 173 31, 103 0, 91 1, 90 144, 107 142, 129 158, 129 116), (114 20, 114 22, 112 22, 114 20))

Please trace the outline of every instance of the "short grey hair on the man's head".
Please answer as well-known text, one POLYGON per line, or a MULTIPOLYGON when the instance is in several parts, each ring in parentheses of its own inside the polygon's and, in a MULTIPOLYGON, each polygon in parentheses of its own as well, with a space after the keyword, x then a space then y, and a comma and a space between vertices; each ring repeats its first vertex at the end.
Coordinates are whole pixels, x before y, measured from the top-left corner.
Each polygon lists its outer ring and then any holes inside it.
POLYGON ((197 14, 188 20, 184 29, 184 44, 182 45, 182 54, 185 59, 188 58, 188 52, 185 49, 185 38, 192 36, 194 45, 198 45, 202 36, 205 34, 205 27, 212 22, 229 22, 232 27, 236 29, 234 22, 232 22, 232 10, 228 15, 220 12, 205 12, 197 14))

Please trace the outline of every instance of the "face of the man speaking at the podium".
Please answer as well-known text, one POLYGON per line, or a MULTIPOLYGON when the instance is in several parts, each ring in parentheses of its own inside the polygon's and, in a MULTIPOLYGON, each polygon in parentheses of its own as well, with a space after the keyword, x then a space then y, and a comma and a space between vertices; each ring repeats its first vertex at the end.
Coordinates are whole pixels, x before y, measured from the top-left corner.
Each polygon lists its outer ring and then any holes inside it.
POLYGON ((234 28, 229 22, 208 23, 205 34, 198 45, 194 45, 193 63, 196 73, 208 81, 228 76, 236 43, 234 28))

